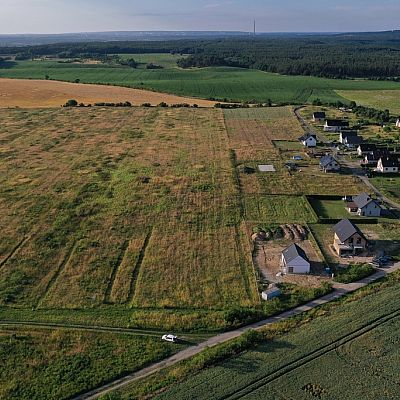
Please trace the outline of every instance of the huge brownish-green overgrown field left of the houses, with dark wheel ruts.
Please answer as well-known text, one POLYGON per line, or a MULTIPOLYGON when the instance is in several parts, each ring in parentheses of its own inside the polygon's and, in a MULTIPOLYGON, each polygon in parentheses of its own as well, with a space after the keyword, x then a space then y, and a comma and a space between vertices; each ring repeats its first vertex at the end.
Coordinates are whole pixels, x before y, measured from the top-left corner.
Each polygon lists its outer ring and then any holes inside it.
POLYGON ((218 110, 2 110, 0 303, 259 302, 218 110))

